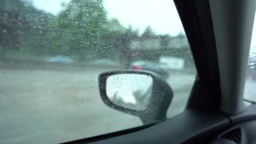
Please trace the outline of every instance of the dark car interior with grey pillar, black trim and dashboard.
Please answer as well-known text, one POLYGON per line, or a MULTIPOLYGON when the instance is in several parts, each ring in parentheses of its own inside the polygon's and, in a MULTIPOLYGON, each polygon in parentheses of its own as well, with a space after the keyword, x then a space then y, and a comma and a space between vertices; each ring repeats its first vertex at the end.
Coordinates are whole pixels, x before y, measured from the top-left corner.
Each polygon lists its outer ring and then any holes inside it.
POLYGON ((256 1, 174 3, 197 69, 187 109, 159 123, 66 143, 256 143, 256 106, 243 100, 256 1))

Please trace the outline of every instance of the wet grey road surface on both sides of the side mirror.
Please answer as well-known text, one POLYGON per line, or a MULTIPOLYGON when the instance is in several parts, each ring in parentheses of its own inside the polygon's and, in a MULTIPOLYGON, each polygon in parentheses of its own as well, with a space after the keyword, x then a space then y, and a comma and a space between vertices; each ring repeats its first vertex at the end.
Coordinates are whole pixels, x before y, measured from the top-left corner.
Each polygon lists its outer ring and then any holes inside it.
MULTIPOLYGON (((60 143, 142 125, 100 99, 98 74, 110 67, 0 63, 0 143, 60 143)), ((172 72, 167 116, 184 110, 194 74, 172 72)))

